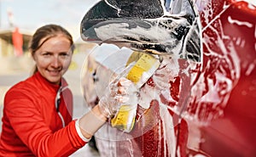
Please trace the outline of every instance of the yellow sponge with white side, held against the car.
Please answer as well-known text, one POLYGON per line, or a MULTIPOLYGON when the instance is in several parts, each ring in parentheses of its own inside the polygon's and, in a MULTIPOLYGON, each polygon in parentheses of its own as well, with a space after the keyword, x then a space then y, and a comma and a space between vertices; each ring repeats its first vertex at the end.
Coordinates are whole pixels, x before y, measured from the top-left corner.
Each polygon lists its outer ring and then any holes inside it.
MULTIPOLYGON (((128 62, 137 61, 126 78, 134 82, 137 88, 143 86, 144 83, 154 74, 154 71, 160 66, 159 59, 156 59, 149 53, 134 52, 131 54, 128 62)), ((127 63, 129 64, 129 63, 127 63)), ((111 125, 123 130, 131 132, 135 117, 137 114, 137 104, 124 104, 120 106, 119 112, 111 120, 111 125)))

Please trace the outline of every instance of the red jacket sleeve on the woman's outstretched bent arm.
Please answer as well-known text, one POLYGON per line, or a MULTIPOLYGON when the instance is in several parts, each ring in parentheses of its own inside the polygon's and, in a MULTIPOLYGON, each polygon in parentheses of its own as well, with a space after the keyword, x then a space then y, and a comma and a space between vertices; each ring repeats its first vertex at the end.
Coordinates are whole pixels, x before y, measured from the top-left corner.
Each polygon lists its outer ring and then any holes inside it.
MULTIPOLYGON (((12 92, 4 100, 5 113, 16 135, 37 156, 68 156, 84 146, 76 132, 75 121, 57 132, 44 122, 34 100, 21 92, 12 92)), ((44 105, 44 104, 42 104, 44 105)))

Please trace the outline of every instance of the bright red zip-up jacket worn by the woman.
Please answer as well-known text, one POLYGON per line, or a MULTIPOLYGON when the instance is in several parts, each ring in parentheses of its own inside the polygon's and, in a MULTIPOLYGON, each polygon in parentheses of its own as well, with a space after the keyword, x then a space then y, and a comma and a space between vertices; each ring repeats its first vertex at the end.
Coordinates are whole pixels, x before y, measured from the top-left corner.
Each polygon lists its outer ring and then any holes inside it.
MULTIPOLYGON (((62 87, 67 82, 62 79, 62 87)), ((9 89, 4 98, 0 156, 68 156, 84 146, 72 121, 73 95, 61 93, 60 112, 55 97, 60 86, 36 73, 9 89)))

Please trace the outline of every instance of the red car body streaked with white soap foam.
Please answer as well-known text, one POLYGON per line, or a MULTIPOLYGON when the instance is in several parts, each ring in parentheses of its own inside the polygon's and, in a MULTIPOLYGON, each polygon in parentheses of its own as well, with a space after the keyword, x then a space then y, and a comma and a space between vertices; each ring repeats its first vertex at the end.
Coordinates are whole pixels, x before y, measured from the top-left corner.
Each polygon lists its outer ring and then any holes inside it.
MULTIPOLYGON (((148 97, 148 109, 138 107, 134 130, 106 124, 96 133, 103 156, 256 156, 256 7, 232 0, 195 5, 201 17, 201 62, 168 64, 178 70, 161 66, 142 87, 143 96, 152 89, 157 96, 148 97), (166 91, 158 87, 160 81, 168 84, 166 91)), ((97 103, 97 91, 109 75, 96 57, 101 52, 94 53, 83 79, 90 105, 97 103)))

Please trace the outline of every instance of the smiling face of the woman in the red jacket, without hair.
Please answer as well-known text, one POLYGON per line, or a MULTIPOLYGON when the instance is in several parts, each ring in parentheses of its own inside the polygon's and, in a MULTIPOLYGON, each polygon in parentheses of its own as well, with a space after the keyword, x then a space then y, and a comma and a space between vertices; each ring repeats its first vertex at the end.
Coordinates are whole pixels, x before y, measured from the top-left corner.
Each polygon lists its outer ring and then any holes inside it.
MULTIPOLYGON (((42 39, 40 42, 43 42, 42 39)), ((34 54, 38 71, 48 81, 59 84, 72 60, 72 51, 66 36, 49 38, 34 54)))

